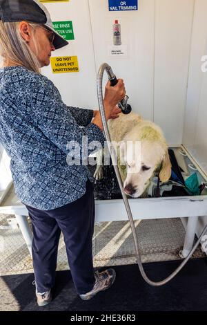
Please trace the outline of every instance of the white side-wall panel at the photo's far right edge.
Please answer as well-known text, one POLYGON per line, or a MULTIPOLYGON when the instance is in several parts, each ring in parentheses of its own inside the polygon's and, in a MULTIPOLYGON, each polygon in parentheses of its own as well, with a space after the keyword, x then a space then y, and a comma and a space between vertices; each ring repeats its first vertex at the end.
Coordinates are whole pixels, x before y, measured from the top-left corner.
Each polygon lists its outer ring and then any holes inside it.
POLYGON ((207 173, 207 72, 201 71, 201 57, 207 55, 207 1, 195 3, 188 94, 184 127, 184 145, 207 173))

